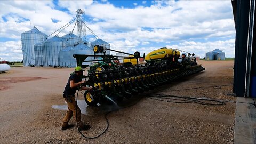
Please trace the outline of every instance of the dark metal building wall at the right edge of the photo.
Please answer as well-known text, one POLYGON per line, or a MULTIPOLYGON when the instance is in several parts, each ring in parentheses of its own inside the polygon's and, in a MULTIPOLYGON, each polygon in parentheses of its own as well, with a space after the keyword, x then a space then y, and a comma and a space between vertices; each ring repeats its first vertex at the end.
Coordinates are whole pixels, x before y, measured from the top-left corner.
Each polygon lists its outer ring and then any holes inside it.
POLYGON ((233 92, 237 97, 256 97, 256 2, 231 2, 236 28, 233 92))

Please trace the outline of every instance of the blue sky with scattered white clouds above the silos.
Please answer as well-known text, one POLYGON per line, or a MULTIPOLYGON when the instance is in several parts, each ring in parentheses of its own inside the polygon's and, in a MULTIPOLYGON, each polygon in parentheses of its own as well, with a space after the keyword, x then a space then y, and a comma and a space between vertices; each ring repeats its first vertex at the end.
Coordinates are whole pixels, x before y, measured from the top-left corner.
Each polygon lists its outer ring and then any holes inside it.
MULTIPOLYGON (((36 26, 50 35, 74 19, 77 9, 85 11, 87 26, 110 43, 111 49, 147 54, 160 47, 173 47, 205 57, 206 52, 218 48, 226 57, 234 57, 231 1, 87 0, 1 1, 0 58, 21 61, 21 33, 36 26)), ((86 38, 95 40, 89 30, 86 38)))

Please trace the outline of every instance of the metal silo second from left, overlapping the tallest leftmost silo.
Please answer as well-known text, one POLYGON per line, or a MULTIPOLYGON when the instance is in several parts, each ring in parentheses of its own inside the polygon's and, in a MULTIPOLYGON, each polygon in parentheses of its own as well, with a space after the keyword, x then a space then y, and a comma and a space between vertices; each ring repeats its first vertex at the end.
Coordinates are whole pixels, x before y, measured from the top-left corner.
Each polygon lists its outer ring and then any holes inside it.
POLYGON ((44 66, 59 66, 59 52, 67 47, 58 36, 54 36, 42 42, 44 66))

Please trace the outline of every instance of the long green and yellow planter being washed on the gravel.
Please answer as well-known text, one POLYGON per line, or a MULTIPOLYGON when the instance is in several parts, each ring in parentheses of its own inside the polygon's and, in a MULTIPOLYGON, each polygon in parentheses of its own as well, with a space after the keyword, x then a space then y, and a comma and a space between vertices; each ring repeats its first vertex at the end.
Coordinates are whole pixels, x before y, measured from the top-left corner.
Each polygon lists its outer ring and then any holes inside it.
POLYGON ((110 50, 106 47, 95 45, 94 55, 73 55, 76 58, 77 66, 83 68, 83 62, 97 62, 90 66, 87 76, 83 76, 87 81, 85 85, 92 86, 92 91, 85 91, 84 98, 88 105, 97 105, 108 99, 122 101, 129 99, 133 95, 155 89, 172 82, 175 79, 186 77, 205 70, 196 63, 195 55, 182 53, 177 49, 163 47, 140 55, 110 50), (106 51, 114 51, 126 56, 107 55, 106 51), (85 61, 87 57, 98 57, 85 61), (139 62, 145 59, 146 62, 139 62), (118 61, 123 60, 123 64, 118 61))

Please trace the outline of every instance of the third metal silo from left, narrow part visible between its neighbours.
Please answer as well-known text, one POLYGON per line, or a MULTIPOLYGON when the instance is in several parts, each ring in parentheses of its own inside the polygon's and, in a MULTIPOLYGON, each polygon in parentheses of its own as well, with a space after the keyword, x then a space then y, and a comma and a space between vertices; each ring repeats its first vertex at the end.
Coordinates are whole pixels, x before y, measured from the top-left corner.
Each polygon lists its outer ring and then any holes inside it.
POLYGON ((66 47, 60 51, 60 66, 61 67, 71 67, 71 57, 70 50, 73 49, 73 45, 66 47))

